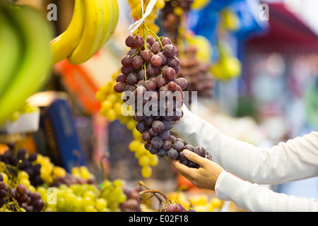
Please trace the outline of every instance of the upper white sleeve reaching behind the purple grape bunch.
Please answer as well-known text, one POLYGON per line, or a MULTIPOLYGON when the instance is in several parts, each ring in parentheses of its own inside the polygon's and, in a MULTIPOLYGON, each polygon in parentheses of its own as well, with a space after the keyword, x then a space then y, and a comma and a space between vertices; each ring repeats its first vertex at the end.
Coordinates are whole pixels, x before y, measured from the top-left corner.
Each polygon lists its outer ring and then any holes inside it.
POLYGON ((258 148, 220 133, 212 124, 183 107, 172 128, 184 141, 203 146, 223 169, 258 184, 280 184, 318 176, 318 132, 272 148, 258 148))

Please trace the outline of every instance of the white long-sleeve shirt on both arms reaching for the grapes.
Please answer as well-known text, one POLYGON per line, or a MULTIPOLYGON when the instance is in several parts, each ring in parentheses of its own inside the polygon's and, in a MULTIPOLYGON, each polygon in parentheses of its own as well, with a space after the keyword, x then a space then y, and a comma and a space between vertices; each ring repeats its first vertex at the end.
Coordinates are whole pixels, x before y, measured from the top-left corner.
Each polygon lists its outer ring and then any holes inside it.
POLYGON ((171 131, 189 144, 206 148, 225 169, 216 182, 218 198, 247 211, 318 211, 314 198, 287 196, 259 186, 318 176, 318 132, 258 148, 225 136, 187 107, 183 111, 171 131))

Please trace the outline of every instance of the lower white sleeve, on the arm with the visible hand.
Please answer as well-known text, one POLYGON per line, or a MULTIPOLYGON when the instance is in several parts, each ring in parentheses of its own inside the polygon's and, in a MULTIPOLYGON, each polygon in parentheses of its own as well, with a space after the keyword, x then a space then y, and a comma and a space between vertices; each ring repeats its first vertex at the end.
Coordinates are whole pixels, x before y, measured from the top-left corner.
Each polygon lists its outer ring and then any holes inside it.
POLYGON ((246 182, 223 171, 219 177, 217 196, 223 201, 232 201, 239 208, 251 212, 317 212, 318 202, 314 198, 298 198, 278 194, 246 182))

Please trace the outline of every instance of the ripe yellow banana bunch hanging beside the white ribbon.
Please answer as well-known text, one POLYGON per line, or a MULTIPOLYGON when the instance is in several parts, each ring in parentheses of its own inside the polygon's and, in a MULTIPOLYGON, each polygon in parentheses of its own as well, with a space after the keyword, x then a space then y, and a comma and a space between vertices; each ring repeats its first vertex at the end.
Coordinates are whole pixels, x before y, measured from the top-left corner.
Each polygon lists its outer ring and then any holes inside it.
POLYGON ((117 0, 75 0, 69 27, 50 42, 52 64, 65 58, 74 65, 88 61, 110 39, 118 20, 117 0))

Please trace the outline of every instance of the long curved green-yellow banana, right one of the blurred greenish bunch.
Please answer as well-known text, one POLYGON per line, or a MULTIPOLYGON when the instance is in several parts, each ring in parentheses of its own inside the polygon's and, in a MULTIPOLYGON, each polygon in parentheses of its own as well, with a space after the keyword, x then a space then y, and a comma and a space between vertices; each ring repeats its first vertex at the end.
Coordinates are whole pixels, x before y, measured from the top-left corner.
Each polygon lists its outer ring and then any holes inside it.
POLYGON ((25 105, 25 100, 37 92, 50 76, 52 52, 52 27, 39 11, 26 6, 10 4, 4 12, 16 26, 23 38, 23 60, 20 61, 14 78, 0 98, 0 124, 25 105))

